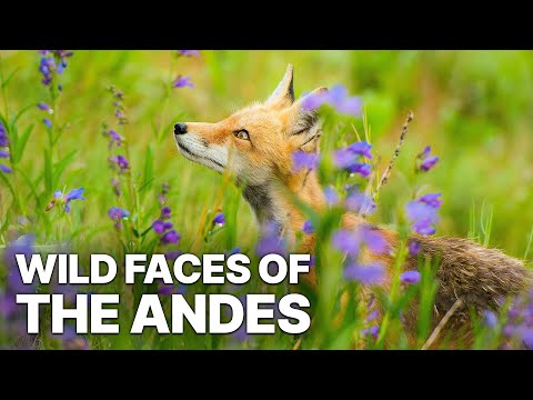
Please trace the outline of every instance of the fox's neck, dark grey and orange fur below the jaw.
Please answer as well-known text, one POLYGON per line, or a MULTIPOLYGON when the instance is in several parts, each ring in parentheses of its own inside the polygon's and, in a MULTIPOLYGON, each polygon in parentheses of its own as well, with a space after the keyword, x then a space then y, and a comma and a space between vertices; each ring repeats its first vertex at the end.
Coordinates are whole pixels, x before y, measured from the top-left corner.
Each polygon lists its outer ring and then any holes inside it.
POLYGON ((248 184, 244 199, 253 209, 260 224, 275 222, 293 236, 302 229, 306 217, 294 206, 294 197, 320 210, 325 204, 319 180, 314 171, 301 171, 288 177, 276 177, 262 184, 248 184))

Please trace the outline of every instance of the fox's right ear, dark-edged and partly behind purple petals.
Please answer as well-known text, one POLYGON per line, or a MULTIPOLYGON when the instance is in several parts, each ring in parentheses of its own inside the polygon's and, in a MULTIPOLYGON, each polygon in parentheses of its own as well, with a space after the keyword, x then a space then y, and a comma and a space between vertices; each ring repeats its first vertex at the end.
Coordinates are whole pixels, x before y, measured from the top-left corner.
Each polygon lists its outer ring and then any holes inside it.
POLYGON ((290 108, 291 124, 288 130, 289 140, 294 142, 296 148, 306 152, 318 152, 322 123, 318 112, 311 108, 311 99, 323 96, 326 88, 318 88, 311 93, 299 99, 290 108))

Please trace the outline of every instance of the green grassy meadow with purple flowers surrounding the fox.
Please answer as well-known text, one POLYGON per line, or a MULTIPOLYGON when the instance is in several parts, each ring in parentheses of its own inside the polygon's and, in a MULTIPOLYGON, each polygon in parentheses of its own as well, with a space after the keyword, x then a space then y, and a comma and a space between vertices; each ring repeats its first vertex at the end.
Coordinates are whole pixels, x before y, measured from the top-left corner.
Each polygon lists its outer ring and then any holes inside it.
MULTIPOLYGON (((202 284, 169 289, 141 282, 104 289, 53 284, 21 289, 10 279, 13 251, 76 252, 87 260, 91 252, 118 258, 164 252, 172 258, 177 251, 202 254, 240 248, 257 259, 260 229, 239 189, 183 158, 173 126, 214 122, 266 99, 289 62, 294 64, 296 98, 320 86, 342 84, 362 101, 359 114, 321 108, 324 159, 364 140, 372 144, 372 173, 379 177, 394 153, 409 111, 414 114, 389 182, 379 192, 375 179, 339 171, 329 162, 320 167, 324 187, 333 187, 340 196, 346 193, 346 184, 366 188, 376 202, 368 219, 399 231, 409 230, 410 201, 441 193, 436 236, 471 238, 531 260, 533 52, 0 51, 0 123, 6 138, 0 131, 6 144, 0 142, 0 157, 4 154, 0 158, 0 346, 381 349, 386 342, 394 349, 424 347, 434 294, 431 266, 421 266, 420 282, 399 281, 384 293, 389 304, 384 323, 376 326, 362 303, 335 320, 341 289, 355 293, 364 282, 343 277, 343 256, 330 240, 335 227, 325 222, 319 232, 322 250, 316 267, 328 263, 332 278, 316 294, 309 293, 315 322, 302 336, 200 336, 190 329, 173 336, 158 334, 152 328, 135 336, 127 329, 117 336, 77 336, 71 330, 54 336, 49 333, 49 311, 43 313, 41 333, 24 333, 23 311, 10 302, 16 290, 59 290, 71 297, 119 292, 128 299, 119 310, 119 322, 125 327, 142 293, 159 292, 164 298, 224 289, 202 284), (439 161, 421 172, 418 156, 428 146, 439 161), (83 191, 76 191, 79 188, 83 191), (221 213, 223 223, 219 223, 221 213), (160 219, 172 228, 153 227, 160 219), (416 343, 406 340, 401 323, 402 304, 413 299, 420 302, 416 343)), ((227 289, 242 296, 263 290, 260 287, 252 280, 227 289)), ((280 294, 285 289, 269 290, 280 294)), ((163 301, 168 311, 170 299, 163 301)), ((521 314, 520 322, 509 316, 496 320, 490 312, 474 321, 473 348, 497 349, 510 342, 533 347, 531 304, 524 310, 530 314, 521 314), (512 330, 513 323, 520 329, 512 330)))

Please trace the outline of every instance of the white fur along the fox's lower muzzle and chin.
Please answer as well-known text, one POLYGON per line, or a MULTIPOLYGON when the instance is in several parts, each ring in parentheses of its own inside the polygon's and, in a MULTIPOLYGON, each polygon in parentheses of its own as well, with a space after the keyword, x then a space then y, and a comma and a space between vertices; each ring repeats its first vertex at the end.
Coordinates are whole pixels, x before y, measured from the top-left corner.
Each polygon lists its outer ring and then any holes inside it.
POLYGON ((219 144, 205 146, 203 140, 193 132, 177 136, 175 140, 180 152, 191 161, 201 163, 218 172, 222 172, 223 167, 228 166, 228 149, 225 147, 219 144), (180 144, 188 151, 181 149, 180 144))

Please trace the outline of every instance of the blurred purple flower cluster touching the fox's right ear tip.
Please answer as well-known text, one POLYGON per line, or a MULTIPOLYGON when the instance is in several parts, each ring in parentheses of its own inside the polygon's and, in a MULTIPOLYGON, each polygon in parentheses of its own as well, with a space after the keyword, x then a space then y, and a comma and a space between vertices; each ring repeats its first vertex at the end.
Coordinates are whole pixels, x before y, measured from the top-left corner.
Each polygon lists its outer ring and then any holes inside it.
POLYGON ((338 112, 354 117, 361 116, 362 100, 360 97, 348 96, 348 90, 342 84, 336 84, 329 91, 308 94, 303 100, 303 108, 316 110, 323 104, 332 106, 338 112))

